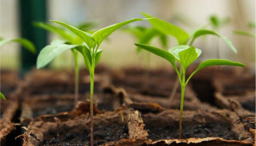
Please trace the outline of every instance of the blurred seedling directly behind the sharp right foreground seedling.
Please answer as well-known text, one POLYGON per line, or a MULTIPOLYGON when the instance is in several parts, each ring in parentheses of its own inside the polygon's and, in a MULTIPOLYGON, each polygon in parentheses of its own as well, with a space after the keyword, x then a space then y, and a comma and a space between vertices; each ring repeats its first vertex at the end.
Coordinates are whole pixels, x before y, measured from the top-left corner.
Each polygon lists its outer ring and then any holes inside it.
MULTIPOLYGON (((153 16, 142 12, 142 14, 147 17, 147 18, 152 18, 153 16)), ((194 42, 195 39, 197 39, 199 36, 203 36, 206 34, 211 34, 211 35, 215 35, 218 36, 219 38, 221 38, 222 40, 224 40, 228 46, 230 47, 230 49, 237 54, 237 49, 235 49, 234 45, 232 44, 232 42, 227 39, 225 36, 219 35, 218 33, 212 31, 212 30, 204 30, 202 28, 204 28, 205 26, 196 28, 194 30, 192 30, 190 33, 184 31, 183 29, 167 22, 164 20, 161 20, 159 18, 154 18, 154 19, 149 19, 150 23, 153 25, 154 28, 156 28, 158 31, 164 33, 164 34, 168 34, 168 35, 172 35, 174 36, 174 38, 176 38, 176 40, 178 41, 178 45, 189 45, 191 46, 194 42), (189 42, 190 41, 190 42, 189 42)), ((179 67, 179 72, 182 72, 182 68, 179 67)), ((172 100, 174 98, 174 95, 176 93, 176 90, 178 88, 178 84, 179 84, 179 79, 177 78, 174 84, 174 87, 172 89, 171 95, 170 95, 170 103, 172 104, 172 100)), ((171 104, 170 104, 170 108, 171 108, 171 104)))

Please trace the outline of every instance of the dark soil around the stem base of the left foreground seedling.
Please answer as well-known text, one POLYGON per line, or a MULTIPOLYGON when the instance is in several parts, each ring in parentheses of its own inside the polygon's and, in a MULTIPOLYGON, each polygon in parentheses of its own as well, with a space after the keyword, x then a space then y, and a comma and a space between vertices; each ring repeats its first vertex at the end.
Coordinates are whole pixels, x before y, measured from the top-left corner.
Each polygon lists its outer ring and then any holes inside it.
MULTIPOLYGON (((43 141, 45 146, 84 146, 90 145, 90 131, 84 131, 83 133, 69 133, 68 127, 64 127, 62 131, 59 131, 59 136, 57 136, 56 131, 49 132, 55 134, 58 138, 53 138, 51 140, 43 141)), ((103 143, 108 143, 110 141, 118 141, 121 138, 128 137, 127 125, 108 125, 99 126, 94 130, 94 145, 100 145, 103 143)))

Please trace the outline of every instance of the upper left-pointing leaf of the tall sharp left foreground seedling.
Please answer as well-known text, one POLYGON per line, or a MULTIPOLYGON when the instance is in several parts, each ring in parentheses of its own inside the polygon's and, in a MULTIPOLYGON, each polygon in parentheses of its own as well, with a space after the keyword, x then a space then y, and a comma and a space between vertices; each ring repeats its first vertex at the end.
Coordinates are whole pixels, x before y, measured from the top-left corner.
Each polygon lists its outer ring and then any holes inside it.
MULTIPOLYGON (((53 20, 50 20, 50 21, 53 21, 53 20)), ((87 46, 89 48, 92 48, 92 46, 94 45, 95 41, 94 41, 91 33, 84 32, 82 30, 79 30, 79 29, 77 29, 73 26, 67 25, 67 24, 62 23, 62 22, 58 22, 58 21, 53 21, 53 22, 55 22, 57 24, 60 24, 64 27, 68 28, 72 32, 76 33, 87 44, 87 46)))

